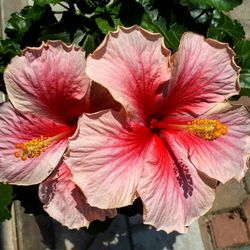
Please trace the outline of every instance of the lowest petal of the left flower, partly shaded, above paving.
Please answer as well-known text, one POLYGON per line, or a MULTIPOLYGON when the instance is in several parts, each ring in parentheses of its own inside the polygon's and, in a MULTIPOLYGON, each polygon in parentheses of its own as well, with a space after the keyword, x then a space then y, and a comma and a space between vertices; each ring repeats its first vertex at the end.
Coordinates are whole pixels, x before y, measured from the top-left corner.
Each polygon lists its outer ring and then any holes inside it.
POLYGON ((103 210, 91 207, 80 189, 71 181, 71 173, 65 163, 39 186, 39 197, 44 210, 70 229, 88 227, 93 220, 104 221, 114 217, 115 209, 103 210))

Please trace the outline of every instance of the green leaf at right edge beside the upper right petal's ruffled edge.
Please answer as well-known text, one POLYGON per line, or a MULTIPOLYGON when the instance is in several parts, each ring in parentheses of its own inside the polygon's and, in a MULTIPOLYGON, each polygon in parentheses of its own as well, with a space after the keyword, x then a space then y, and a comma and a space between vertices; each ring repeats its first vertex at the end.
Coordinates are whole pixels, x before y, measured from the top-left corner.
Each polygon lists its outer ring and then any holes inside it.
POLYGON ((239 41, 235 47, 236 62, 242 68, 250 69, 250 40, 239 41))

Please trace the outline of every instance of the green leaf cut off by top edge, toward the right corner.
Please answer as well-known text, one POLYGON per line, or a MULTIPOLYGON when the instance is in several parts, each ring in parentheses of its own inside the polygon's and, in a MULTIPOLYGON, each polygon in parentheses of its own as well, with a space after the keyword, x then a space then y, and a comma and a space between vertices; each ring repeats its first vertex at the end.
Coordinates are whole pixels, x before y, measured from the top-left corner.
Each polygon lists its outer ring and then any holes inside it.
POLYGON ((242 0, 181 0, 184 6, 191 7, 213 7, 219 11, 229 11, 242 4, 242 0))

